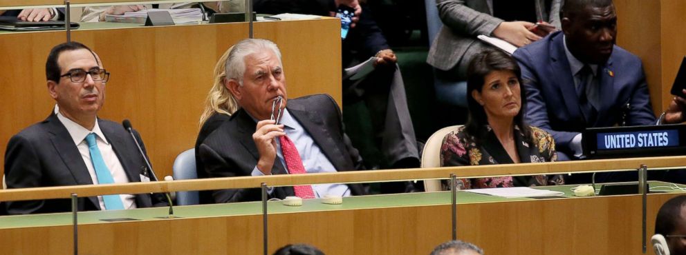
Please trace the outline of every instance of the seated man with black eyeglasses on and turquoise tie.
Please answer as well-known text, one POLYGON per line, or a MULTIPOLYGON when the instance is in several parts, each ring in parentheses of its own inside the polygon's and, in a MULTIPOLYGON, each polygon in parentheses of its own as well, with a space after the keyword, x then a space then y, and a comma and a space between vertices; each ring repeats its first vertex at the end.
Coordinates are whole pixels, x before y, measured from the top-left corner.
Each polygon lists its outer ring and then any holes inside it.
MULTIPOLYGON (((147 168, 131 136, 119 123, 98 119, 109 72, 95 52, 62 43, 46 61, 47 88, 55 99, 48 119, 12 136, 5 154, 7 187, 129 183, 147 168)), ((134 131, 138 141, 140 136, 134 131)), ((145 147, 143 147, 145 151, 145 147)), ((158 194, 115 194, 80 198, 81 210, 123 210, 165 205, 158 194)), ((71 201, 6 202, 8 214, 68 212, 71 201)))

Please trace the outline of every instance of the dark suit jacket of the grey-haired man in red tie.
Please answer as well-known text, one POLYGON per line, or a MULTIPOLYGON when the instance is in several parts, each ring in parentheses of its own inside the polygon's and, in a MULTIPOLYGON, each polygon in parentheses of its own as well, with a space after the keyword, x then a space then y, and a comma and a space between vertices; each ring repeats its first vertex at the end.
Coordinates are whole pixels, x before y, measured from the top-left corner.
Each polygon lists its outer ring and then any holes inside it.
MULTIPOLYGON (((288 100, 290 115, 302 125, 317 143, 326 158, 337 171, 352 171, 362 167, 358 151, 344 135, 341 112, 328 95, 304 96, 288 100)), ((214 130, 200 145, 200 158, 210 177, 250 176, 259 154, 252 140, 257 123, 245 110, 240 109, 214 130)), ((272 174, 286 174, 284 165, 275 159, 272 174)), ((360 184, 348 184, 353 195, 366 194, 360 184)), ((293 187, 275 187, 271 197, 294 196, 293 187)), ((258 201, 258 188, 217 190, 213 194, 216 203, 258 201)))

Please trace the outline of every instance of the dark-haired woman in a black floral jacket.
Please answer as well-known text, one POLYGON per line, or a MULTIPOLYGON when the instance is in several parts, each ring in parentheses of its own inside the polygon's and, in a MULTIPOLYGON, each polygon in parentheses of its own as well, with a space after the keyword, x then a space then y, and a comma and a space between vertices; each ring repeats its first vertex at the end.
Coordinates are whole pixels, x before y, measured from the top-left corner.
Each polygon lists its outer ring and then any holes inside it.
MULTIPOLYGON (((469 119, 441 145, 441 166, 557 161, 553 136, 523 121, 521 70, 510 55, 485 50, 467 70, 469 119)), ((562 176, 502 176, 460 180, 463 189, 559 185, 562 176)))

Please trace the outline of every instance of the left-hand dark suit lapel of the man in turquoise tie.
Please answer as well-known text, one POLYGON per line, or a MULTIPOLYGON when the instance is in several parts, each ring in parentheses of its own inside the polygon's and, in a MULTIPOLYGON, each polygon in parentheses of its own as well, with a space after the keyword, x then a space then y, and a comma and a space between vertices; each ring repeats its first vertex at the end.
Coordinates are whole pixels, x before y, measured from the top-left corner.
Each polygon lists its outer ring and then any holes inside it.
MULTIPOLYGON (((67 170, 71 172, 71 175, 74 177, 75 184, 93 184, 91 174, 89 174, 86 163, 84 163, 81 157, 81 152, 79 152, 79 149, 74 144, 71 135, 66 128, 64 128, 64 125, 57 119, 57 115, 55 115, 55 113, 50 114, 46 121, 48 124, 48 132, 52 134, 50 136, 50 142, 53 143, 53 146, 55 147, 55 154, 62 158, 62 162, 66 165, 67 170)), ((98 210, 100 210, 98 198, 90 196, 89 200, 98 210)))

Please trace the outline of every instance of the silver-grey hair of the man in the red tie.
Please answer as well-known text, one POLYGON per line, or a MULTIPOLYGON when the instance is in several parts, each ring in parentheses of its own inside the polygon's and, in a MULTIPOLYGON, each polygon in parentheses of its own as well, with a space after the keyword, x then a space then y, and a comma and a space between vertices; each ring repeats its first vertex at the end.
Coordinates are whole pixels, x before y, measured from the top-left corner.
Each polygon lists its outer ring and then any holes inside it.
POLYGON ((263 50, 272 50, 281 63, 281 51, 276 43, 266 39, 243 39, 236 43, 229 52, 225 65, 226 78, 234 79, 242 85, 243 74, 245 73, 245 57, 263 50))

